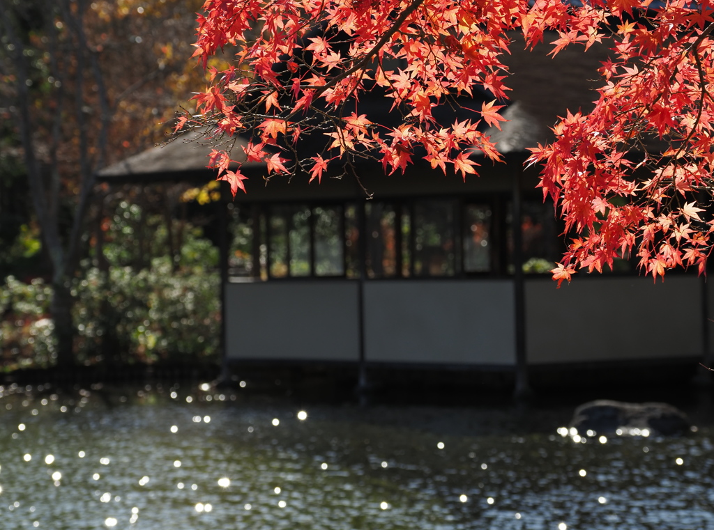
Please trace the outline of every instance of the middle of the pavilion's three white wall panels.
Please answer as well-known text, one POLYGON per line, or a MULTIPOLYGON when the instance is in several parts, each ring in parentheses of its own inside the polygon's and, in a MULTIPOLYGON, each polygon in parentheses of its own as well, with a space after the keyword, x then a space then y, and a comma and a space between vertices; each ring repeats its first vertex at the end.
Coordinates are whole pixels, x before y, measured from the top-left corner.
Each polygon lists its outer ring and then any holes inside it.
POLYGON ((513 365, 509 280, 403 280, 365 284, 368 361, 513 365))

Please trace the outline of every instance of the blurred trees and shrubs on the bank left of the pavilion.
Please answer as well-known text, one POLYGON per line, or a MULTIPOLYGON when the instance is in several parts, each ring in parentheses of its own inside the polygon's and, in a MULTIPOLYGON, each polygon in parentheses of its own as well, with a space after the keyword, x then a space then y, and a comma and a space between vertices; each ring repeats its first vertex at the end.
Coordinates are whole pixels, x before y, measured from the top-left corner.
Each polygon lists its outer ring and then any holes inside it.
POLYGON ((203 85, 200 7, 0 1, 0 370, 218 362, 210 194, 95 179, 203 85))

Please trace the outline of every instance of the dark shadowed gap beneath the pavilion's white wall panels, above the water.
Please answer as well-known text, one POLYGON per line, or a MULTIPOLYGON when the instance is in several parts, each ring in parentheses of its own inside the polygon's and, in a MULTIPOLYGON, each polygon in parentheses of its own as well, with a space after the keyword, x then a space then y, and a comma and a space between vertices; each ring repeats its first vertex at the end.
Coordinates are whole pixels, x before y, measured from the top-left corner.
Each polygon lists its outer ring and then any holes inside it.
MULTIPOLYGON (((684 402, 697 388, 693 377, 704 370, 698 362, 690 357, 530 367, 532 404, 557 407, 590 399, 651 401, 670 394, 684 402)), ((474 365, 366 363, 368 384, 364 387, 358 386, 356 362, 231 360, 228 370, 232 384, 245 381, 248 392, 285 394, 298 402, 356 402, 362 394, 373 404, 508 405, 515 384, 513 367, 474 365)))

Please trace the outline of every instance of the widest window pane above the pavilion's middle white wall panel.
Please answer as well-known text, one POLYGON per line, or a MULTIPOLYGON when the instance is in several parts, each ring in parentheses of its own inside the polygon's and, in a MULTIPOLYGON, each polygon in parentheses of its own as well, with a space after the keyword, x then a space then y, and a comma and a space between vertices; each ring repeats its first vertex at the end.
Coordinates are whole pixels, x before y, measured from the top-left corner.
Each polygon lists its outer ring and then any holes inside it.
POLYGON ((415 203, 413 215, 414 275, 454 275, 453 203, 446 200, 415 203))

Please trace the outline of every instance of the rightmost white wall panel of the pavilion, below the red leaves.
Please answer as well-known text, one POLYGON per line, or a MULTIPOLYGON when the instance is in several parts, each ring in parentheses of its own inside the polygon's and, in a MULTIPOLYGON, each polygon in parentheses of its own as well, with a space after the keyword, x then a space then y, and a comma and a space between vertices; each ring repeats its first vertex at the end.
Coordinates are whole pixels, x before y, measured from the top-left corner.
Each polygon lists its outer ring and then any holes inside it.
POLYGON ((526 282, 528 364, 702 355, 700 278, 578 276, 526 282))

